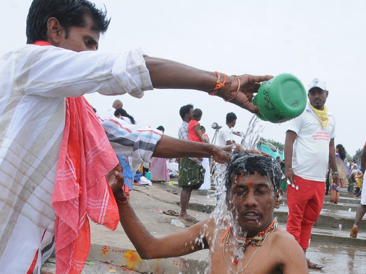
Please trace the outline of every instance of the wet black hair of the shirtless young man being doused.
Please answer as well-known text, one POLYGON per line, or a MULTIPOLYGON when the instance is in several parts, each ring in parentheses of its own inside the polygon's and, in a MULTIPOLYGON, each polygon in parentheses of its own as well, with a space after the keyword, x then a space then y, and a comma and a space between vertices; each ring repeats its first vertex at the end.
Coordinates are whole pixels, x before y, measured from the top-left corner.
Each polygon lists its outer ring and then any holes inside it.
POLYGON ((280 164, 275 158, 261 154, 234 151, 231 153, 230 159, 225 175, 227 191, 231 189, 234 175, 252 175, 254 172, 268 176, 273 183, 275 191, 280 188, 282 174, 280 164))

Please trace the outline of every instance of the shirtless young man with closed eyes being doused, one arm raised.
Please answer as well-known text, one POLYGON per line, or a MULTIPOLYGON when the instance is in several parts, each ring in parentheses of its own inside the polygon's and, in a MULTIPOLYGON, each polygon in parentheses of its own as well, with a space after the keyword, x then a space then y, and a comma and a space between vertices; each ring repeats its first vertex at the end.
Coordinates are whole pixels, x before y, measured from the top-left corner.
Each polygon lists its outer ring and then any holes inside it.
POLYGON ((273 217, 282 190, 280 165, 272 157, 234 152, 226 170, 223 208, 228 212, 222 214, 222 220, 217 222, 212 214, 160 239, 146 230, 128 203, 120 169, 116 167, 111 176, 116 179, 112 190, 120 222, 142 259, 178 257, 209 249, 208 273, 309 273, 302 248, 292 235, 277 227, 273 217))

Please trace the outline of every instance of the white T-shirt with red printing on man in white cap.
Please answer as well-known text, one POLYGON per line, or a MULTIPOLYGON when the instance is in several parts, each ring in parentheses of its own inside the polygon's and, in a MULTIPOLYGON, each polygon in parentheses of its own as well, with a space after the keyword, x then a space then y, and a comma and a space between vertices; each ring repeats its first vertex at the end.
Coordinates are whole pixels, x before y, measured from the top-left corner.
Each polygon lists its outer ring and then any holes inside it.
POLYGON ((313 181, 325 181, 329 161, 329 142, 335 137, 335 117, 328 111, 325 129, 309 103, 304 112, 292 119, 287 130, 297 134, 292 152, 295 175, 313 181))

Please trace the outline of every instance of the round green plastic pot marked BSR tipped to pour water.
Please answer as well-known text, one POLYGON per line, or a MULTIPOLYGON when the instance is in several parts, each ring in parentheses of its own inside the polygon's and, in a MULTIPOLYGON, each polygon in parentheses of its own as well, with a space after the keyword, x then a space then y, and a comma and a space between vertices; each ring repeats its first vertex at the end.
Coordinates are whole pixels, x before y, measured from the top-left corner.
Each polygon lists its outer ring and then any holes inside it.
POLYGON ((290 73, 281 73, 265 81, 253 98, 257 116, 264 121, 282 123, 298 117, 306 107, 304 85, 290 73))

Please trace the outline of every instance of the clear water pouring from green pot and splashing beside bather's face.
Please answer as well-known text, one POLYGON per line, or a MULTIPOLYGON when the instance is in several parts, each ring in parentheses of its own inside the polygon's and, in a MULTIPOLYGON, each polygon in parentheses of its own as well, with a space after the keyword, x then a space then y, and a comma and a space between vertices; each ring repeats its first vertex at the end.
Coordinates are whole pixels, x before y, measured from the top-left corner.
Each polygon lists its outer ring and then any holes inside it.
MULTIPOLYGON (((248 128, 246 130, 246 134, 241 142, 241 145, 244 149, 247 150, 253 150, 257 148, 257 143, 259 141, 259 138, 263 132, 263 129, 265 127, 265 122, 262 121, 257 117, 257 115, 253 115, 251 118, 248 128)), ((223 235, 219 235, 219 231, 225 231, 227 229, 227 225, 231 226, 233 228, 234 236, 232 238, 237 239, 238 235, 238 228, 233 225, 232 222, 232 215, 231 212, 228 211, 226 202, 225 202, 225 195, 226 195, 226 189, 225 189, 225 170, 226 170, 226 164, 216 164, 216 171, 215 175, 213 176, 213 182, 216 186, 216 199, 217 199, 217 205, 215 209, 213 210, 211 216, 214 219, 215 223, 215 230, 213 235, 213 243, 217 243, 217 241, 221 240, 221 237, 223 235), (223 227, 225 224, 225 227, 223 227), (227 224, 227 225, 226 225, 227 224)), ((203 235, 201 235, 203 237, 203 235)), ((210 252, 213 252, 214 247, 210 250, 210 252)), ((221 252, 217 251, 217 252, 221 252)), ((234 254, 241 254, 241 258, 244 256, 244 252, 239 251, 239 246, 233 245, 232 252, 234 254)), ((232 259, 232 258, 231 258, 232 259)), ((239 256, 240 259, 240 256, 239 256)), ((239 260, 241 261, 241 260, 239 260)), ((240 265, 239 265, 240 267, 240 265)), ((211 268, 211 260, 208 262, 208 267, 205 269, 205 274, 210 273, 211 268)), ((228 269, 228 273, 230 273, 230 270, 228 269)))

